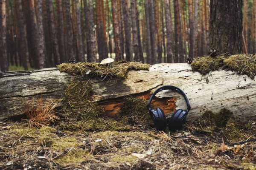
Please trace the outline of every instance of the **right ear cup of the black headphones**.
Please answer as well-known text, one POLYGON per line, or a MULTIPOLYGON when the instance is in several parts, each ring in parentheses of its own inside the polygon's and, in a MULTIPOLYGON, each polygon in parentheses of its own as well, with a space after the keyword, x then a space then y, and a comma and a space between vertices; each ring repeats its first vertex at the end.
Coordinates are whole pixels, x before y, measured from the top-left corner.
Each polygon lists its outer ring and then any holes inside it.
POLYGON ((172 114, 172 117, 169 119, 169 130, 175 131, 182 127, 183 123, 186 120, 188 112, 182 109, 178 109, 175 113, 172 114))

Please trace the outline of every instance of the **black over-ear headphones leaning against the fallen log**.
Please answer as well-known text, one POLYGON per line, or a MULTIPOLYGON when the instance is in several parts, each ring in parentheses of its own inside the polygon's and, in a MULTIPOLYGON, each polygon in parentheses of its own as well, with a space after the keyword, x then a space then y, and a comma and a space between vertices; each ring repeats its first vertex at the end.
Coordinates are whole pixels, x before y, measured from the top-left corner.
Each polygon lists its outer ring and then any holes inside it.
POLYGON ((182 127, 183 122, 186 119, 186 116, 187 116, 189 110, 190 110, 190 105, 189 105, 189 100, 188 100, 186 94, 180 88, 177 88, 173 85, 162 86, 162 87, 158 88, 156 91, 154 91, 154 93, 151 95, 151 97, 148 101, 148 105, 147 105, 148 111, 151 115, 151 119, 153 119, 154 125, 157 128, 157 130, 166 130, 167 122, 166 122, 166 116, 163 113, 163 110, 161 108, 157 108, 156 110, 150 108, 151 101, 152 101, 153 97, 158 92, 163 91, 163 90, 177 91, 180 94, 182 94, 182 96, 186 100, 187 109, 185 111, 183 109, 178 109, 177 111, 175 111, 172 114, 172 117, 168 121, 169 130, 174 131, 174 130, 180 129, 182 127))

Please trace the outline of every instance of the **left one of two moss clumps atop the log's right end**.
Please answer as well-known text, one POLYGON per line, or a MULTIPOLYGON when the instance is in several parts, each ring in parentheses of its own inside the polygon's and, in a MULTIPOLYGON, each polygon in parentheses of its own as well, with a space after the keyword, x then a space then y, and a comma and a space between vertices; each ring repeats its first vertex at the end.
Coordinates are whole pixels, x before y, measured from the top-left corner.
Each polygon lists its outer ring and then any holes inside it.
POLYGON ((199 73, 205 75, 209 71, 219 70, 223 66, 223 59, 218 57, 197 57, 191 63, 193 71, 198 71, 199 73))

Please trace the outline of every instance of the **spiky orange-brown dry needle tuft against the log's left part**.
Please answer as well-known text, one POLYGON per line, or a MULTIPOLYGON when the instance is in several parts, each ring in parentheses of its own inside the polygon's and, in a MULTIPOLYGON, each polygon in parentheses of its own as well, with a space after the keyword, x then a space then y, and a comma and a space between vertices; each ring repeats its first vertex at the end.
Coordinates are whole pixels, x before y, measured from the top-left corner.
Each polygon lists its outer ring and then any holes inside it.
POLYGON ((23 108, 24 113, 26 114, 28 119, 23 119, 29 123, 29 126, 42 127, 47 126, 51 122, 55 120, 59 120, 60 118, 55 115, 57 104, 48 102, 45 106, 43 104, 43 100, 38 98, 38 104, 33 105, 29 103, 29 105, 25 105, 23 108))

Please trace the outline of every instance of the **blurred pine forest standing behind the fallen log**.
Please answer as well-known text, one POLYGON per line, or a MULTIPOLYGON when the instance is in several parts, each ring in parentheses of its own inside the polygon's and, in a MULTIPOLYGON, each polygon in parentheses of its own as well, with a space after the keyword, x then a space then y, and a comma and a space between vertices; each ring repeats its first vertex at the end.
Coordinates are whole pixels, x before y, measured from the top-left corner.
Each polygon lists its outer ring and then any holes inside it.
POLYGON ((256 53, 255 17, 256 0, 0 0, 0 70, 256 53))

